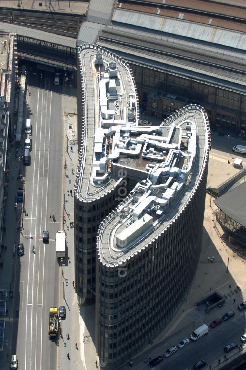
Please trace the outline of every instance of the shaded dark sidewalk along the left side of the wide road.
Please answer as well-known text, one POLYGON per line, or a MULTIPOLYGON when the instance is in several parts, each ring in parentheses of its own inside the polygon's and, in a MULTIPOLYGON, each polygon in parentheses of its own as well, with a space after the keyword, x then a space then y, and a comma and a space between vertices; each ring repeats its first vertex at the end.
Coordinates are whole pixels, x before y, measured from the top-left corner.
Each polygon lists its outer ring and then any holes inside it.
POLYGON ((21 149, 17 148, 15 142, 12 142, 8 145, 9 154, 8 154, 8 164, 9 164, 9 173, 8 173, 8 185, 7 194, 8 198, 5 201, 5 214, 3 226, 6 227, 6 231, 3 233, 2 244, 7 246, 7 249, 1 250, 1 268, 0 268, 0 280, 1 280, 1 289, 7 290, 7 311, 6 311, 6 320, 4 328, 4 349, 6 353, 2 352, 0 368, 9 369, 10 356, 16 351, 16 339, 12 337, 13 328, 17 332, 19 325, 19 318, 16 317, 16 310, 20 312, 20 298, 18 292, 16 291, 16 286, 18 286, 20 278, 20 262, 19 257, 17 256, 17 248, 15 253, 13 252, 14 242, 16 247, 18 243, 23 242, 20 231, 17 230, 19 214, 15 211, 15 202, 16 202, 16 190, 19 187, 23 187, 20 179, 17 179, 19 174, 19 169, 23 173, 23 161, 18 162, 18 156, 21 154, 21 149), (18 154, 18 155, 17 155, 18 154), (18 262, 18 263, 17 263, 18 262), (10 290, 13 292, 13 297, 9 295, 10 290), (11 339, 13 340, 11 342, 11 339))

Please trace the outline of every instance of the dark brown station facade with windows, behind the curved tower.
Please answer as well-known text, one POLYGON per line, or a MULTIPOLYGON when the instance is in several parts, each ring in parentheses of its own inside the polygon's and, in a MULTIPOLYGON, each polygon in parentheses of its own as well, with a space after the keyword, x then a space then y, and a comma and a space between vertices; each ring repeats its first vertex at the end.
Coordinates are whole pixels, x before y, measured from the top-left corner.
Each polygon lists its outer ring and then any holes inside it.
POLYGON ((141 107, 146 114, 164 120, 190 102, 201 104, 211 128, 246 133, 246 95, 188 76, 172 75, 131 64, 141 107))

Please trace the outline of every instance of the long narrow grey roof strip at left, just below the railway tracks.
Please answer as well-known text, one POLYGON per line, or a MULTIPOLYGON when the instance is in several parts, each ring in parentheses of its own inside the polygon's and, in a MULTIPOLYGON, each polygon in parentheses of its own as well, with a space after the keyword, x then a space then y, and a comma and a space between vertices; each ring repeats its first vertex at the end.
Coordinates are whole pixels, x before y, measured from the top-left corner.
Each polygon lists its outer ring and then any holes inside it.
POLYGON ((17 26, 16 24, 9 24, 0 22, 0 30, 4 32, 12 32, 21 36, 35 38, 37 40, 47 41, 49 43, 59 44, 67 47, 76 47, 76 39, 71 37, 65 37, 61 35, 55 35, 40 30, 34 30, 33 28, 27 28, 17 26))

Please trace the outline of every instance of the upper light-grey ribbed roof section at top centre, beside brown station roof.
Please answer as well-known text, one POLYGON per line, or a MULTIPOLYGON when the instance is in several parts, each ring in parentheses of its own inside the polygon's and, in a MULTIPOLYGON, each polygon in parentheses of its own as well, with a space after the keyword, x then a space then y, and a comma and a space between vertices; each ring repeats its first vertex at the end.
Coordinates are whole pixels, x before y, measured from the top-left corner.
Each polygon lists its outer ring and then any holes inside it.
POLYGON ((116 0, 91 0, 87 20, 92 23, 109 24, 116 0))

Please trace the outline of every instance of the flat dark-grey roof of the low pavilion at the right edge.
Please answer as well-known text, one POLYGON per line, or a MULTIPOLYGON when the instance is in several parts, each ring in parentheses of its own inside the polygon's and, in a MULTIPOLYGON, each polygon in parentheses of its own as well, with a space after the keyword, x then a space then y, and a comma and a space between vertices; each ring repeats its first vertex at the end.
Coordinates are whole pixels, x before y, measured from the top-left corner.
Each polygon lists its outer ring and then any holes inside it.
POLYGON ((246 182, 213 201, 228 217, 246 226, 246 182))

